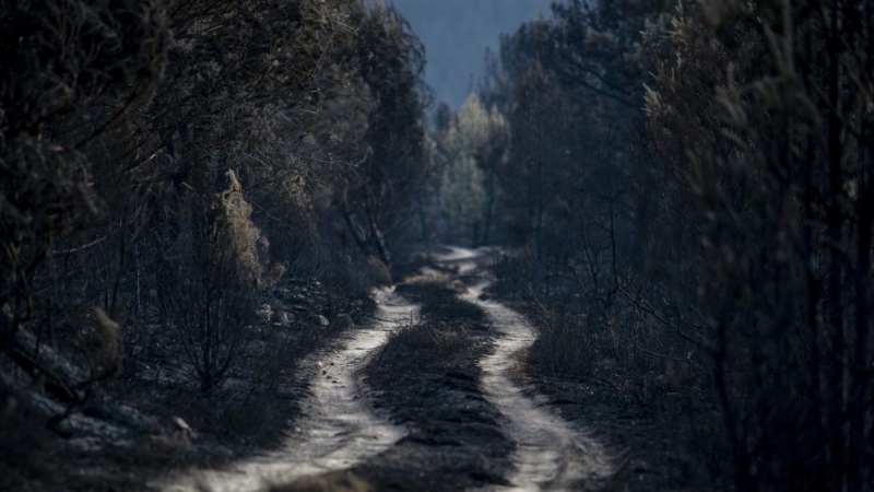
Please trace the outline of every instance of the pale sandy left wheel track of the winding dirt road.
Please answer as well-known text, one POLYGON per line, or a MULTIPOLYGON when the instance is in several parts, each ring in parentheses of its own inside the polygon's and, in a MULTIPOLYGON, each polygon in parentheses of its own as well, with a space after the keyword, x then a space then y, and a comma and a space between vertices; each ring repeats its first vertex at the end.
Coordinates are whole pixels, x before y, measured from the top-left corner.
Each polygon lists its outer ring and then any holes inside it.
POLYGON ((295 424, 296 433, 282 449, 223 470, 194 471, 160 489, 261 491, 303 477, 352 468, 391 447, 405 431, 370 409, 358 371, 388 335, 409 323, 417 311, 393 290, 378 291, 374 323, 349 330, 340 340, 340 349, 320 353, 305 364, 315 374, 311 396, 295 424))

